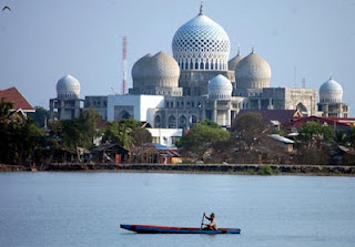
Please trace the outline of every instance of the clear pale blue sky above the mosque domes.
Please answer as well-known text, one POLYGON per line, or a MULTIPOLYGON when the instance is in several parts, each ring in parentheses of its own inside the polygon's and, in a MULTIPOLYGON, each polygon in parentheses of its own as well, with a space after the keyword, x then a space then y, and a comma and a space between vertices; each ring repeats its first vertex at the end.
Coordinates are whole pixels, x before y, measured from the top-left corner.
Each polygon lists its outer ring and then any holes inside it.
MULTIPOLYGON (((204 0, 204 13, 227 32, 233 58, 252 47, 271 65, 271 86, 320 89, 329 74, 355 116, 355 0, 204 0)), ((175 31, 199 13, 199 0, 0 0, 0 90, 16 86, 49 109, 59 79, 80 81, 81 97, 122 89, 128 37, 129 88, 134 62, 172 55, 175 31)))

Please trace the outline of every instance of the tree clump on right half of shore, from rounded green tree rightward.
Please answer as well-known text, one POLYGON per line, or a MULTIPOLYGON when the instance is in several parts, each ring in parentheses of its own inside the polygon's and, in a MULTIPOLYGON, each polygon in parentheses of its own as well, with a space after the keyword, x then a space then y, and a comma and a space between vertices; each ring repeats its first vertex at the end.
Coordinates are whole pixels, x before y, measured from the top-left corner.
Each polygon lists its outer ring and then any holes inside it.
MULTIPOLYGON (((288 152, 270 137, 283 136, 284 130, 275 130, 258 113, 244 114, 230 131, 211 121, 195 124, 184 133, 179 147, 186 162, 230 164, 337 164, 339 146, 355 147, 355 127, 347 131, 315 121, 303 124, 294 137, 294 152, 288 152)), ((346 161, 355 164, 355 158, 346 161)), ((343 162, 344 164, 344 162, 343 162)))

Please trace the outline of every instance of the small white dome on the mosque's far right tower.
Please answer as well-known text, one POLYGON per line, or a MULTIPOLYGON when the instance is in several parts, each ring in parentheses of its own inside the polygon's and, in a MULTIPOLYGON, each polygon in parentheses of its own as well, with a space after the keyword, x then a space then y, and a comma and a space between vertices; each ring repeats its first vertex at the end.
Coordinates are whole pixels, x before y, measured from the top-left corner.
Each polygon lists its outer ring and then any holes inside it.
POLYGON ((332 76, 320 89, 321 103, 341 103, 343 101, 343 88, 332 76))

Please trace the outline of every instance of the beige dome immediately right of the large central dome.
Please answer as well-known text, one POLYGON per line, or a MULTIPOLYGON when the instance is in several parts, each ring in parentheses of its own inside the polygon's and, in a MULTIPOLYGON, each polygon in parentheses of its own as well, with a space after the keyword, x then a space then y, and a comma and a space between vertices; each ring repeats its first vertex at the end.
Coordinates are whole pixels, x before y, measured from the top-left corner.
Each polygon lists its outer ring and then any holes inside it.
POLYGON ((258 56, 254 49, 251 54, 242 59, 235 66, 236 86, 241 89, 270 88, 271 68, 258 56))

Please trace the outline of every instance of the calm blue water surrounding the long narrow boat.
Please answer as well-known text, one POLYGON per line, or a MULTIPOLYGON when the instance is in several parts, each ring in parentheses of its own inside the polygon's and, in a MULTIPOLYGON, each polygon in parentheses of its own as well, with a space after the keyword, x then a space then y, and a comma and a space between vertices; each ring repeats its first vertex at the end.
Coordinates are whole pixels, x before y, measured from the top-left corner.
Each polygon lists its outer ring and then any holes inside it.
POLYGON ((355 178, 150 173, 1 173, 0 246, 354 246, 355 178), (241 235, 139 235, 119 224, 241 235))

